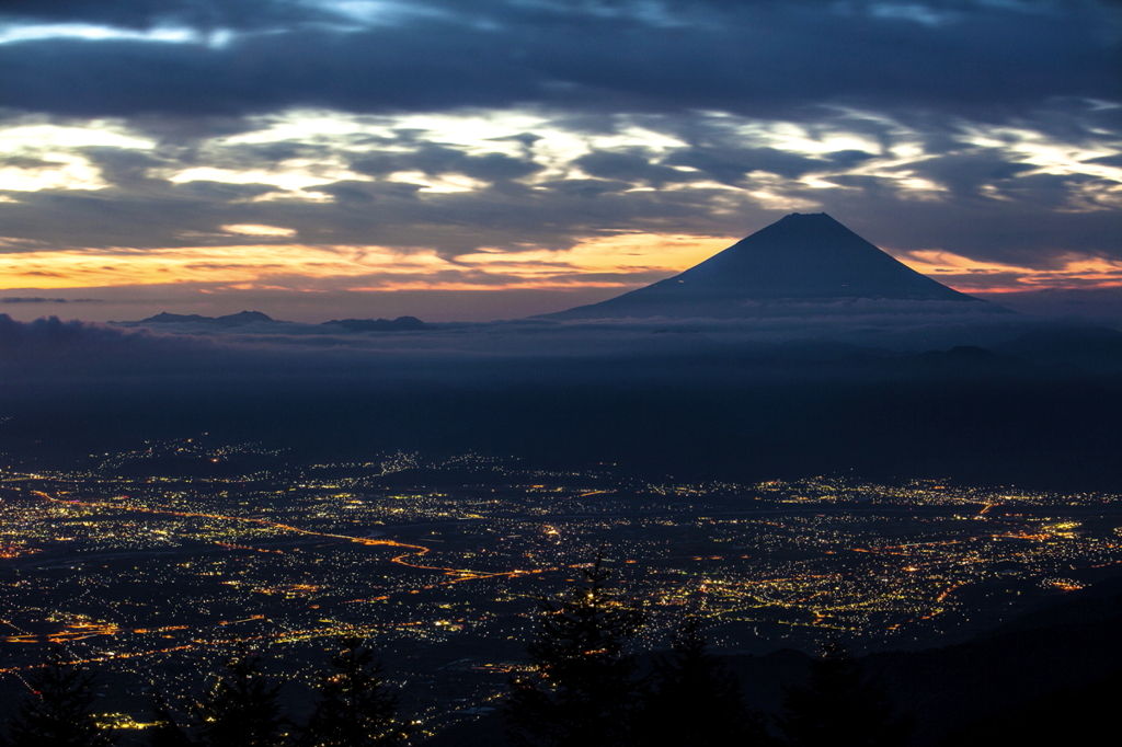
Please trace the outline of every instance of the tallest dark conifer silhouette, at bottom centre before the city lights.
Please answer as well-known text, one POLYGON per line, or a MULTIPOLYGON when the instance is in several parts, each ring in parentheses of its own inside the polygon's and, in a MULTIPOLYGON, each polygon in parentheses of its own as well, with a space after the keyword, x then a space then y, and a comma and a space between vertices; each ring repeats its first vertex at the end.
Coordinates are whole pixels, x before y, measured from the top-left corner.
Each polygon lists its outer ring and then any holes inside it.
POLYGON ((527 648, 534 673, 512 682, 505 714, 523 745, 619 747, 632 741, 640 683, 624 651, 643 625, 642 608, 606 584, 597 556, 560 601, 541 600, 527 648))

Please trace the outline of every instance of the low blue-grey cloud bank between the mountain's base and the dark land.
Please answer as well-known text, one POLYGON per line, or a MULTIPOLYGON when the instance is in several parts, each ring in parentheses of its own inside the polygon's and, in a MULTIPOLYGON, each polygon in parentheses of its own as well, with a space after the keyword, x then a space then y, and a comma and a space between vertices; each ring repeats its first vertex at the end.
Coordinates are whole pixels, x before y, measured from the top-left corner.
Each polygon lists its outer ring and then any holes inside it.
POLYGON ((1031 330, 1055 329, 1047 321, 964 311, 955 303, 843 306, 794 304, 788 315, 753 320, 524 320, 401 332, 286 322, 138 329, 57 317, 24 323, 0 314, 0 375, 7 384, 0 404, 24 407, 44 398, 57 409, 80 393, 86 403, 81 407, 127 409, 155 397, 163 412, 172 400, 233 404, 239 393, 273 403, 314 403, 329 394, 369 402, 419 391, 462 403, 479 391, 535 387, 563 400, 564 393, 589 385, 643 390, 664 400, 668 393, 714 387, 746 396, 757 386, 774 391, 829 382, 826 389, 834 390, 880 381, 946 382, 980 371, 1031 379, 1041 372, 992 356, 981 369, 965 359, 962 366, 942 365, 939 356, 927 357, 938 359, 935 368, 926 359, 909 361, 921 351, 1002 344, 1031 330), (990 362, 1000 365, 991 370, 990 362), (103 391, 109 398, 100 398, 103 391))

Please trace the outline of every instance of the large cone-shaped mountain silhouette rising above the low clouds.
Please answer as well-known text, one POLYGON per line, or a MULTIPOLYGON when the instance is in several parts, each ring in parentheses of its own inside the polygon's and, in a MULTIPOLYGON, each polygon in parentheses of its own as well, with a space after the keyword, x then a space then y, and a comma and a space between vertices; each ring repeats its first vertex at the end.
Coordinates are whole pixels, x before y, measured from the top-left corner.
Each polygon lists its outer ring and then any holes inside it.
MULTIPOLYGON (((868 302, 922 302, 932 311, 936 305, 941 311, 1005 311, 920 275, 826 213, 792 213, 680 275, 537 319, 875 313, 868 302)), ((899 311, 899 304, 889 306, 899 311)))

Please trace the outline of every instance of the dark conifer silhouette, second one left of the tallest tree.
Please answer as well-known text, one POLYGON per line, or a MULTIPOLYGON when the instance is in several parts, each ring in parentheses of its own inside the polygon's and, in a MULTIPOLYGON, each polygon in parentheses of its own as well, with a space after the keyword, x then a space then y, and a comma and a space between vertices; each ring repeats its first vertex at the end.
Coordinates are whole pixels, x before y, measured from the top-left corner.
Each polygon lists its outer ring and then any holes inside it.
POLYGON ((279 682, 261 670, 259 656, 245 645, 227 663, 229 671, 195 703, 195 720, 205 747, 278 747, 285 720, 279 682))

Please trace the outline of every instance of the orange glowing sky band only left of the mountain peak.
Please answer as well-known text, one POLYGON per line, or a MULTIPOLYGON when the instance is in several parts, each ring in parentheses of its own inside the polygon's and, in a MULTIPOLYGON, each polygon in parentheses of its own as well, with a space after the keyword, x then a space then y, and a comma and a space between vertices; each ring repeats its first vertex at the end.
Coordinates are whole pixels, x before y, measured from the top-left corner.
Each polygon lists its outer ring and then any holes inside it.
MULTIPOLYGON (((269 227, 231 227, 265 234, 269 227)), ((636 273, 675 273, 733 243, 727 237, 625 233, 570 249, 432 249, 261 243, 169 249, 63 249, 0 255, 0 289, 205 283, 226 289, 504 290, 613 288, 636 273), (587 277, 586 277, 587 276, 587 277), (616 277, 605 277, 616 276, 616 277)))

